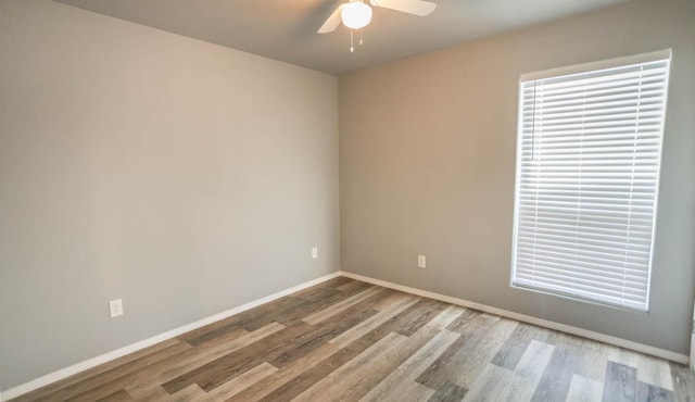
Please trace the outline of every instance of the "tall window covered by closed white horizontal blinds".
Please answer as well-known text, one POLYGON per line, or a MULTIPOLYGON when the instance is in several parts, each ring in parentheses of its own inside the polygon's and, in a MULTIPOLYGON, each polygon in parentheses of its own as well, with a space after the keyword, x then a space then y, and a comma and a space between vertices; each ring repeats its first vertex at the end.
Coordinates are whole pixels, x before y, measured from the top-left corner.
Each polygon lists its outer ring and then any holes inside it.
POLYGON ((511 286, 648 310, 670 59, 521 76, 511 286))

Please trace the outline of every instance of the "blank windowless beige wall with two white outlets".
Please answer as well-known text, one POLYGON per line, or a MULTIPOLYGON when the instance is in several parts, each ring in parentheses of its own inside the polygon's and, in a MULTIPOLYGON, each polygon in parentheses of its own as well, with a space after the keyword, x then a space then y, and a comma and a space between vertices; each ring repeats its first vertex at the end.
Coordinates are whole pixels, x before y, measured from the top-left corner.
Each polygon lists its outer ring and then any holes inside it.
POLYGON ((337 101, 329 75, 0 1, 2 388, 337 271, 337 101))

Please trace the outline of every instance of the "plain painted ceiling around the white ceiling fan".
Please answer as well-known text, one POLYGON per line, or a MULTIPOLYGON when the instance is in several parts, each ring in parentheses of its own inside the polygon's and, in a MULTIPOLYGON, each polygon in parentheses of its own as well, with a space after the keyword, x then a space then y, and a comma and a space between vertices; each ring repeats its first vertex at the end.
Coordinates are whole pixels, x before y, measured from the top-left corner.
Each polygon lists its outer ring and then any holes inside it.
POLYGON ((229 48, 341 74, 630 0, 438 0, 425 17, 375 8, 365 45, 316 34, 346 0, 55 0, 229 48))

